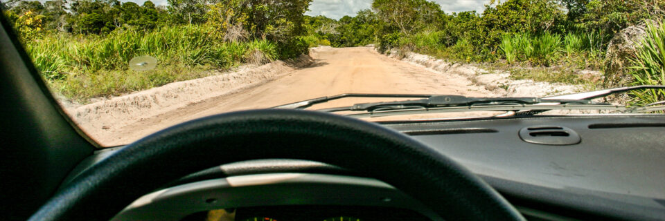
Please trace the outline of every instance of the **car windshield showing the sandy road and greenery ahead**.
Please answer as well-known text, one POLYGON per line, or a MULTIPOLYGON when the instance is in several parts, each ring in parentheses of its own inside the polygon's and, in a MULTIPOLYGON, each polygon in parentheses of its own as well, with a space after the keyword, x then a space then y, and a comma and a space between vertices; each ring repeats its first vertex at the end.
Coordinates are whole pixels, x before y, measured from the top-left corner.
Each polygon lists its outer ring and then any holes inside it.
POLYGON ((2 9, 64 111, 101 146, 257 108, 404 121, 659 114, 665 100, 657 87, 558 97, 664 84, 665 1, 2 0, 2 9))

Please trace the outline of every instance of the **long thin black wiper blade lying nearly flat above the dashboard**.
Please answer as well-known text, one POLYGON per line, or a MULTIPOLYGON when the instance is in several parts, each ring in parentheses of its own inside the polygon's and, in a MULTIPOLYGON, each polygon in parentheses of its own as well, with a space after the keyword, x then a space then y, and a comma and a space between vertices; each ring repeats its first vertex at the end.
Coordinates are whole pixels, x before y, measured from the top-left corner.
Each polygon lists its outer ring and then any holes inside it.
POLYGON ((460 95, 430 95, 424 99, 412 99, 398 102, 374 102, 353 104, 353 106, 341 108, 328 108, 319 111, 337 112, 337 111, 387 111, 398 109, 423 109, 452 106, 490 106, 490 105, 508 105, 508 104, 539 104, 539 103, 557 103, 557 104, 595 104, 591 100, 584 99, 544 99, 539 97, 464 97, 460 95))

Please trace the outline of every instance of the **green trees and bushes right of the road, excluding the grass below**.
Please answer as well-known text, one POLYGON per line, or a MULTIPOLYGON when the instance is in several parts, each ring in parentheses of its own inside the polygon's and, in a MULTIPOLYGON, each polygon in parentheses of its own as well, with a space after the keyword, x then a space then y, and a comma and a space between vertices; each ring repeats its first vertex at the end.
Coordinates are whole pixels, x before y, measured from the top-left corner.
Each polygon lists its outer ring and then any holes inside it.
MULTIPOLYGON (((558 46, 571 41, 567 52, 604 50, 617 32, 644 23, 645 19, 662 18, 664 10, 665 1, 493 0, 482 13, 447 14, 438 4, 425 0, 375 0, 371 10, 362 10, 355 17, 339 21, 325 17, 309 19, 315 24, 315 34, 329 39, 333 46, 377 43, 382 50, 406 46, 414 50, 439 50, 436 53, 443 57, 496 61, 506 59, 502 47, 517 46, 513 39, 525 37, 536 44, 531 46, 533 50, 542 48, 540 51, 545 54, 552 48, 548 45, 552 41, 558 46)), ((508 58, 513 61, 513 55, 508 58)), ((551 63, 547 61, 549 57, 541 55, 515 56, 515 59, 551 63)))

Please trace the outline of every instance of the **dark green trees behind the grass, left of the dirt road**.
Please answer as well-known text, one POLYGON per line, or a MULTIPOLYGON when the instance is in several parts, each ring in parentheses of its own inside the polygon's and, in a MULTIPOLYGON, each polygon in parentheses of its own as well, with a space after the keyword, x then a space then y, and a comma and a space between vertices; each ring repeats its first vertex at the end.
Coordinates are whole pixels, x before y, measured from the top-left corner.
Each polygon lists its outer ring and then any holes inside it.
POLYGON ((311 1, 168 0, 168 6, 152 1, 139 6, 118 0, 10 0, 3 3, 3 13, 28 44, 62 33, 107 37, 126 31, 209 26, 210 37, 224 42, 271 41, 280 58, 288 58, 306 52, 303 13, 311 1))

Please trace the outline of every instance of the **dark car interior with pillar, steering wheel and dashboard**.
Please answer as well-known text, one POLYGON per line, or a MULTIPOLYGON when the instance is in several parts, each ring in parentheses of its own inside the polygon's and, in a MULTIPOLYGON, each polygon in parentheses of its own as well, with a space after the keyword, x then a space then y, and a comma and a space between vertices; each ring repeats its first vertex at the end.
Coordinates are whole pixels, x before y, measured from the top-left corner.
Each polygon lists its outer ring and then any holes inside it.
POLYGON ((662 114, 264 109, 99 148, 1 26, 1 220, 665 219, 662 114))

